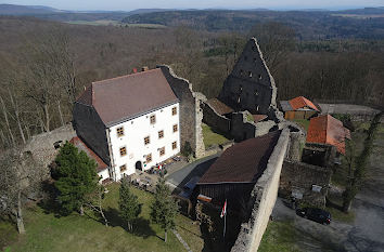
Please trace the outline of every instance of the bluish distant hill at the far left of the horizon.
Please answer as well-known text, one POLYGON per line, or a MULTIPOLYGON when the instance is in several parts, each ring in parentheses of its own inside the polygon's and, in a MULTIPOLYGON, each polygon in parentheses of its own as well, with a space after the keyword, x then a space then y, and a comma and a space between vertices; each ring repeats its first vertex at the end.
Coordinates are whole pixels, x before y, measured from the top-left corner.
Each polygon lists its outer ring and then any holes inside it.
POLYGON ((50 6, 0 4, 0 15, 34 15, 56 12, 61 11, 50 6))

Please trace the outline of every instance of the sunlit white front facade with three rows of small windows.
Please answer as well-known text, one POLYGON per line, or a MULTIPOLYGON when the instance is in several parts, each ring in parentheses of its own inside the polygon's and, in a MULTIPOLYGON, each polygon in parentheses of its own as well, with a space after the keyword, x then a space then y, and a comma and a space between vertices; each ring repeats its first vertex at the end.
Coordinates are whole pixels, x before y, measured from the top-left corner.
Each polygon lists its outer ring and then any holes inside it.
POLYGON ((118 181, 135 173, 136 168, 149 170, 180 152, 179 118, 179 103, 175 103, 107 129, 112 178, 118 181), (155 116, 155 122, 151 122, 152 116, 155 116), (177 128, 176 132, 174 128, 177 128), (149 155, 151 161, 146 161, 149 155))

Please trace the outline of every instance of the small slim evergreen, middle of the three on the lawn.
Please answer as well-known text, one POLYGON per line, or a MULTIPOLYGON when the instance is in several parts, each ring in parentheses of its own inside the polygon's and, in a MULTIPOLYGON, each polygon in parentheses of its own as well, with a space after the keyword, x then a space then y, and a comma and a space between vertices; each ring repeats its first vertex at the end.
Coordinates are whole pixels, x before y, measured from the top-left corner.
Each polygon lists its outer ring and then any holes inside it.
POLYGON ((141 212, 138 197, 130 191, 127 180, 123 180, 118 205, 120 208, 120 216, 127 222, 128 230, 132 230, 132 221, 137 218, 141 212))

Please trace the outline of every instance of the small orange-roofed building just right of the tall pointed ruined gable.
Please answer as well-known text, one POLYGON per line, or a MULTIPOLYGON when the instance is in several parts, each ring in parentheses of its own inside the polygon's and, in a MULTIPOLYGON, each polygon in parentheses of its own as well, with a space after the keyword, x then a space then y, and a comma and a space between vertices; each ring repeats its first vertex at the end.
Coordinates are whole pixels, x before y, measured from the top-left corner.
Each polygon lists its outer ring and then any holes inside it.
POLYGON ((309 119, 320 112, 318 106, 304 96, 298 96, 290 101, 280 101, 280 107, 286 120, 309 119))

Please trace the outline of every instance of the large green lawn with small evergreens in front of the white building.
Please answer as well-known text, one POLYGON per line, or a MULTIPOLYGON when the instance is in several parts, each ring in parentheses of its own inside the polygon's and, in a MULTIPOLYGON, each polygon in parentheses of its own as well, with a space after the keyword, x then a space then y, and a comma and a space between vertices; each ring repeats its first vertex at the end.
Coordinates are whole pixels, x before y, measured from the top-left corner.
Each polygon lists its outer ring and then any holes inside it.
MULTIPOLYGON (((18 239, 14 226, 0 222, 0 249, 8 244, 12 252, 184 251, 172 233, 168 233, 168 241, 164 242, 164 231, 158 225, 150 223, 151 194, 132 188, 143 203, 133 235, 125 230, 125 224, 118 216, 118 184, 110 185, 108 189, 104 199, 105 213, 111 222, 108 227, 77 213, 56 217, 53 213, 44 213, 43 209, 35 207, 24 211, 27 233, 18 236, 18 239), (3 237, 10 239, 2 239, 3 237)), ((193 251, 202 251, 204 241, 199 225, 178 215, 176 229, 193 251)))

